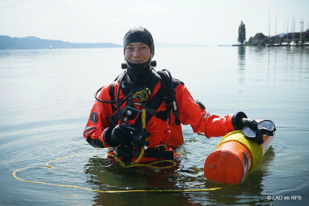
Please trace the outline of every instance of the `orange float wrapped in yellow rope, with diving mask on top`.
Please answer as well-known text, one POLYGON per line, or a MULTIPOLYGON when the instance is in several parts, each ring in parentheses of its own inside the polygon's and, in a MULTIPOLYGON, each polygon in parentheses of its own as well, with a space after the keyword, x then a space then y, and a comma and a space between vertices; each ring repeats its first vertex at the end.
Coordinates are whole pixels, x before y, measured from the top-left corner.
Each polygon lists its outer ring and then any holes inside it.
MULTIPOLYGON (((272 121, 258 120, 258 128, 263 134, 263 144, 258 145, 248 138, 250 129, 246 132, 241 130, 227 134, 219 143, 217 148, 208 155, 204 164, 204 175, 206 179, 226 184, 240 183, 246 175, 255 169, 260 163, 262 156, 271 146, 275 136, 275 126, 272 121), (259 126, 260 125, 260 126, 259 126), (273 126, 272 126, 273 125, 273 126), (265 135, 268 134, 268 135, 265 135)), ((248 130, 247 130, 248 129, 248 130)), ((253 133, 253 131, 251 131, 253 133)), ((254 132, 254 136, 255 136, 254 132)))

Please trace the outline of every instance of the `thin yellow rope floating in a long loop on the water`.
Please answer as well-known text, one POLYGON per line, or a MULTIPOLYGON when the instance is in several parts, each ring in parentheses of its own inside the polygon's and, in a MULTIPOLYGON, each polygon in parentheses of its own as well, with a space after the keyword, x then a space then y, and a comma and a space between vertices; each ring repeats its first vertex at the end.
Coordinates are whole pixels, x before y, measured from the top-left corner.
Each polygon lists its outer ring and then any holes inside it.
MULTIPOLYGON (((95 153, 91 153, 91 154, 95 154, 95 153)), ((29 182, 29 183, 38 183, 38 184, 44 184, 44 185, 51 185, 51 186, 58 186, 58 187, 74 187, 74 188, 78 188, 78 189, 83 189, 83 190, 87 190, 87 191, 91 191, 91 192, 102 192, 102 193, 115 193, 115 192, 203 192, 203 191, 212 191, 212 190, 219 190, 219 189, 223 189, 223 188, 227 188, 227 187, 214 187, 214 188, 206 188, 206 189, 169 189, 169 190, 110 190, 110 191, 102 191, 102 190, 94 190, 94 189, 89 189, 87 187, 80 187, 80 186, 76 186, 76 185, 68 185, 68 184, 52 184, 52 183, 45 183, 45 182, 39 182, 39 181, 31 181, 31 180, 24 180, 24 179, 20 179, 16 176, 16 173, 18 171, 21 171, 23 169, 27 169, 27 168, 44 168, 44 169, 48 169, 48 168, 55 168, 49 165, 49 163, 57 161, 57 160, 61 160, 61 159, 66 159, 66 158, 70 158, 70 157, 74 157, 74 156, 81 156, 81 155, 90 155, 89 153, 87 154, 79 154, 79 155, 72 155, 69 157, 63 157, 63 158, 58 158, 58 159, 54 159, 51 160, 49 162, 47 162, 45 165, 46 167, 23 167, 20 169, 15 170, 12 175, 15 179, 22 181, 22 182, 29 182)), ((169 161, 169 160, 163 160, 163 161, 169 161)), ((156 164, 158 162, 154 162, 151 164, 156 164)), ((146 165, 132 165, 133 166, 146 166, 146 165)), ((164 167, 161 167, 164 168, 164 167)), ((228 186, 231 187, 231 186, 228 186)))

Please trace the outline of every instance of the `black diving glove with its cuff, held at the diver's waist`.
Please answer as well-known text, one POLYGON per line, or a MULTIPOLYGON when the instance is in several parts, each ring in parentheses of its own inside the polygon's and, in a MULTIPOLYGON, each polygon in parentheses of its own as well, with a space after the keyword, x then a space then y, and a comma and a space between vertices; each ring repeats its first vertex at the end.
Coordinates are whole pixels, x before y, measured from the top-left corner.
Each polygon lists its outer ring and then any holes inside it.
POLYGON ((133 124, 117 125, 115 128, 109 128, 104 132, 103 139, 104 142, 111 147, 116 147, 120 144, 129 145, 132 138, 132 133, 136 134, 138 129, 136 129, 133 124))

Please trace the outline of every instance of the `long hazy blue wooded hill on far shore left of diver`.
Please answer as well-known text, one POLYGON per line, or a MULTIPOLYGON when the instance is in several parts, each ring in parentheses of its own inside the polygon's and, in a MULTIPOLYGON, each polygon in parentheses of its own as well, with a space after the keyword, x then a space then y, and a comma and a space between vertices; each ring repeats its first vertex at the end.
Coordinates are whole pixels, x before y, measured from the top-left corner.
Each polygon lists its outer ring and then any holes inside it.
POLYGON ((70 43, 60 40, 40 39, 35 36, 23 38, 0 35, 0 49, 48 49, 53 48, 105 48, 105 47, 122 47, 114 43, 70 43))

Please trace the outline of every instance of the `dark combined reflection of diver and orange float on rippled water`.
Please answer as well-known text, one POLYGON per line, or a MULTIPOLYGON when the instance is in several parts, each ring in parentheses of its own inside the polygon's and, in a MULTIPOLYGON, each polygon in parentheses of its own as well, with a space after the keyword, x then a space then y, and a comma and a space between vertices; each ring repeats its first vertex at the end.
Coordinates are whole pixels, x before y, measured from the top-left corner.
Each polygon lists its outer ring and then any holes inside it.
MULTIPOLYGON (((260 201, 263 197, 263 180, 270 174, 269 166, 273 164, 275 153, 272 147, 265 153, 260 165, 252 173, 248 174, 242 183, 233 186, 233 189, 223 188, 211 192, 192 192, 177 193, 171 195, 160 192, 151 192, 144 194, 118 193, 118 199, 125 199, 125 204, 134 202, 134 204, 145 204, 145 198, 155 198, 156 196, 165 196, 163 200, 156 200, 157 204, 168 203, 177 204, 255 204, 267 203, 267 199, 260 201), (252 191, 248 197, 247 192, 252 191), (137 198, 138 197, 138 198, 137 198)), ((164 165, 162 165, 164 166, 164 165)), ((84 171, 89 177, 88 184, 96 185, 96 190, 154 190, 154 189, 193 189, 193 188, 212 188, 226 187, 224 184, 207 181, 203 172, 197 172, 190 169, 181 169, 180 162, 169 169, 153 168, 122 168, 112 158, 102 158, 99 156, 91 157, 84 167, 84 171), (131 187, 128 187, 131 185, 131 187), (134 185, 134 186, 133 186, 134 185)), ((109 202, 110 194, 98 193, 93 200, 95 205, 114 205, 115 202, 109 202)), ((146 201, 147 202, 147 201, 146 201)), ((151 202, 150 202, 151 203, 151 202)))

